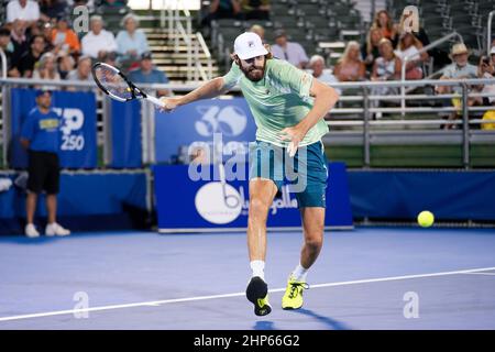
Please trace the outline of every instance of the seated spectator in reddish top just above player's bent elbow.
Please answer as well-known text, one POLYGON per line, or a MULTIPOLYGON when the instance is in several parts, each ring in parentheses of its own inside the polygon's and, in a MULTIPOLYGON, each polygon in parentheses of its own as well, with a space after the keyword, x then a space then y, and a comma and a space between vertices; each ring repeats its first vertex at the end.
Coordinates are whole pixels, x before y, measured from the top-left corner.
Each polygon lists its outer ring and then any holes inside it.
POLYGON ((336 65, 334 74, 339 81, 358 81, 366 78, 366 67, 361 59, 358 42, 348 43, 342 57, 336 65))

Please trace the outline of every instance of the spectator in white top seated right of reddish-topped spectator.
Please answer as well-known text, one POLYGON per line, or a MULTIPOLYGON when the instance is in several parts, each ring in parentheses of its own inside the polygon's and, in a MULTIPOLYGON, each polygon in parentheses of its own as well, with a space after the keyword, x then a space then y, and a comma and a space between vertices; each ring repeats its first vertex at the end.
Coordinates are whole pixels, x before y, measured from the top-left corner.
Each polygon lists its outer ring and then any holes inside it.
MULTIPOLYGON (((375 61, 371 79, 378 81, 400 79, 400 58, 395 55, 392 42, 383 37, 380 41, 378 48, 380 57, 375 61)), ((396 87, 373 87, 371 92, 376 96, 397 95, 398 89, 396 87)), ((380 103, 378 100, 371 101, 374 108, 378 107, 380 103)), ((378 116, 380 113, 376 114, 376 117, 378 116)))

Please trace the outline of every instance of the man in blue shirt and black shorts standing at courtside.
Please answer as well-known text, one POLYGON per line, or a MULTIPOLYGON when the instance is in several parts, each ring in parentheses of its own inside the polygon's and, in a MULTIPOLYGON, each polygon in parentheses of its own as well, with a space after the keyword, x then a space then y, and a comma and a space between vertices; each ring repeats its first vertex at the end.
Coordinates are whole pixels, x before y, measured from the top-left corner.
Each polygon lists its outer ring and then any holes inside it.
POLYGON ((36 92, 36 108, 31 110, 21 129, 21 143, 29 153, 25 235, 37 238, 34 227, 37 195, 46 191, 48 222, 46 235, 68 235, 70 231, 56 222, 59 190, 59 128, 61 117, 51 109, 52 92, 36 92))

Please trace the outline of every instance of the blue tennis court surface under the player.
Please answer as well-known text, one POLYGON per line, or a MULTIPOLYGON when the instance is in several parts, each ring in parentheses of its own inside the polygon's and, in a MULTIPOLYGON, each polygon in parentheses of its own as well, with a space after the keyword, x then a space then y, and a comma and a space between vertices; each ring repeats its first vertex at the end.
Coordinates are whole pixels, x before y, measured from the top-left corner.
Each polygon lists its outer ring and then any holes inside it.
POLYGON ((244 233, 1 237, 0 329, 495 329, 495 230, 356 228, 324 240, 305 306, 286 311, 302 239, 268 233, 273 311, 258 318, 244 296, 244 233))

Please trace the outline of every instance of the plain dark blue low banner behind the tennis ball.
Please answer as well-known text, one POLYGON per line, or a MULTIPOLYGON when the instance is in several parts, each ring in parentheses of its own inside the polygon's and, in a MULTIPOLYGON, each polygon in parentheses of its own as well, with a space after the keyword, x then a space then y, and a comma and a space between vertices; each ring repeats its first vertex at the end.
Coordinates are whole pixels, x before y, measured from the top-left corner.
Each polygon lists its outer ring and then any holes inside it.
POLYGON ((495 220, 495 172, 350 172, 354 217, 413 220, 495 220))

